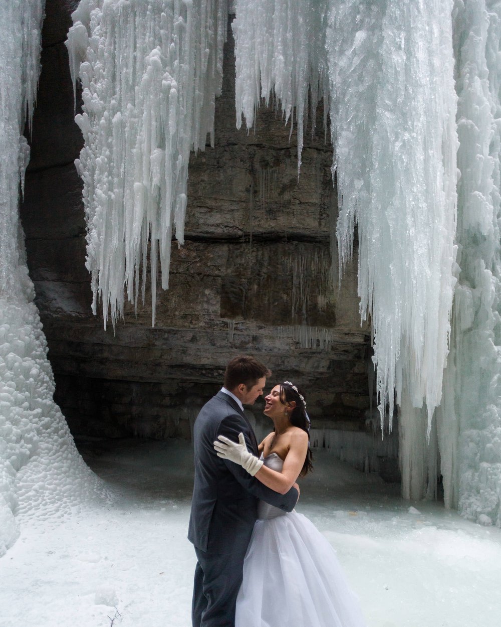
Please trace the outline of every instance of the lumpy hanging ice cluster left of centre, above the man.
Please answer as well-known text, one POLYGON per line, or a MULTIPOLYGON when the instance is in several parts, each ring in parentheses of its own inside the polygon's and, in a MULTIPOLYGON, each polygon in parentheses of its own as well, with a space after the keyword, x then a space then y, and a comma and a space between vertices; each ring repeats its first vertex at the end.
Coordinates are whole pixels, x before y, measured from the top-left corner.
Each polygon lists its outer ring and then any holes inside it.
POLYGON ((68 33, 80 77, 83 179, 93 311, 115 325, 124 286, 145 298, 147 256, 153 324, 160 258, 168 288, 172 236, 183 243, 190 150, 214 141, 222 81, 226 0, 82 0, 68 33))

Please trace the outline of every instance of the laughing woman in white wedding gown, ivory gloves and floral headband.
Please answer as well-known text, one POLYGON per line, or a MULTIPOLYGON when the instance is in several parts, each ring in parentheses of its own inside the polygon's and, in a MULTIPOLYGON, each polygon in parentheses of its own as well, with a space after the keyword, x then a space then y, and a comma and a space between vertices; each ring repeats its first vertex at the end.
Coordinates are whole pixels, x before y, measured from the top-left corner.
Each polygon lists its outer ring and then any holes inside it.
MULTIPOLYGON (((219 457, 238 463, 267 487, 285 494, 312 470, 304 397, 286 381, 266 396, 274 431, 259 445, 261 458, 218 436, 219 457)), ((304 515, 259 502, 237 597, 235 627, 364 627, 334 549, 304 515)))

